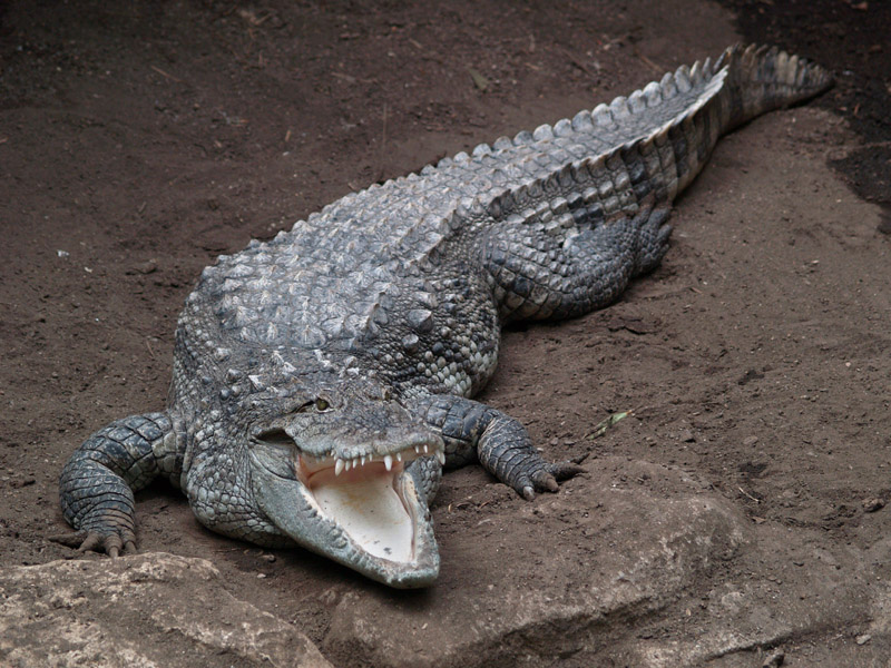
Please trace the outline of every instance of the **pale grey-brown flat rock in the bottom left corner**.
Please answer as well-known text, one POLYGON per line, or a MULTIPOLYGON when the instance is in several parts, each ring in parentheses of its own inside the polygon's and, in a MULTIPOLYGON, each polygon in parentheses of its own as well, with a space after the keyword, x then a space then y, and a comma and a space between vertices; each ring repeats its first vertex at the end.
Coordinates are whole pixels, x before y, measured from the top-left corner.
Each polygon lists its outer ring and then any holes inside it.
POLYGON ((0 665, 331 667, 293 626, 228 593, 209 561, 159 552, 0 571, 0 665))

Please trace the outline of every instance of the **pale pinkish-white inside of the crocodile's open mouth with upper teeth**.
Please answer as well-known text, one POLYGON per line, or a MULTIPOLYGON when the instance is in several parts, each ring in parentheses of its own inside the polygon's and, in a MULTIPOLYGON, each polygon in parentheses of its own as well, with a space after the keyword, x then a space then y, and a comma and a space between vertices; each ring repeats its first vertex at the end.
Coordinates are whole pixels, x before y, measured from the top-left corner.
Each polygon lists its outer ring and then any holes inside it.
POLYGON ((441 464, 446 459, 441 444, 421 443, 354 459, 301 452, 296 469, 321 513, 358 547, 380 559, 410 562, 417 518, 403 475, 405 465, 421 456, 435 456, 441 464))

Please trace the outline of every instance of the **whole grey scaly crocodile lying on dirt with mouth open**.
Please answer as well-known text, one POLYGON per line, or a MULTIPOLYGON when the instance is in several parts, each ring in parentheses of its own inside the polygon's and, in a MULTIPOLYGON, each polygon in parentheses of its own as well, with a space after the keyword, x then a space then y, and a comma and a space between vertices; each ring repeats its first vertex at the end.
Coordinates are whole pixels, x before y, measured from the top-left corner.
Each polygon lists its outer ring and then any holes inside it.
POLYGON ((501 327, 617 299, 659 264, 670 206, 718 137, 831 80, 776 48, 731 47, 222 255, 179 316, 167 409, 76 450, 60 479, 74 531, 56 540, 134 552, 134 492, 163 477, 214 531, 431 584, 443 468, 478 461, 528 500, 579 471, 471 399, 501 327))

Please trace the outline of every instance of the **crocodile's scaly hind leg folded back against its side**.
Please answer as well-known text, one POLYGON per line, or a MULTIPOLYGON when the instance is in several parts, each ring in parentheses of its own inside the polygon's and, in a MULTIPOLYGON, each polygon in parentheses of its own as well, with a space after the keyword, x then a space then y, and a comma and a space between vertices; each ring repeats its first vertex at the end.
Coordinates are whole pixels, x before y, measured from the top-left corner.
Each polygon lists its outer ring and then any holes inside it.
POLYGON ((628 282, 658 265, 668 247, 668 205, 554 234, 540 225, 492 229, 482 262, 505 321, 562 320, 616 301, 628 282))

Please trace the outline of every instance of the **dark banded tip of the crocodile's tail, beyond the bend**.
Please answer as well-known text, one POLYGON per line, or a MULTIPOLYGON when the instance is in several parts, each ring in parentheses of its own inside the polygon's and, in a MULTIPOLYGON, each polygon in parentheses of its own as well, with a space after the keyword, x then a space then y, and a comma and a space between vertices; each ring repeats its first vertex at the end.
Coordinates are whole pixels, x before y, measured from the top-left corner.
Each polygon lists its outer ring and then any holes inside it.
POLYGON ((832 75, 826 69, 776 47, 730 47, 715 67, 725 66, 731 97, 728 129, 772 109, 806 100, 832 86, 832 75))

